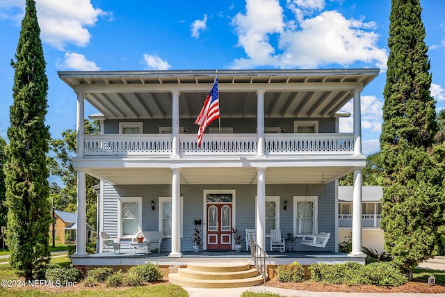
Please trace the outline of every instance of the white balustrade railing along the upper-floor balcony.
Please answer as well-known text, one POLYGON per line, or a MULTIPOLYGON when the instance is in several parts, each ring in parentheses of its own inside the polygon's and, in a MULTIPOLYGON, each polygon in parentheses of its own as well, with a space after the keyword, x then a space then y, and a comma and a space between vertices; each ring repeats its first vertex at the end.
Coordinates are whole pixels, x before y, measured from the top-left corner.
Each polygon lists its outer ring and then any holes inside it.
MULTIPOLYGON (((105 134, 84 136, 85 156, 171 155, 172 134, 105 134)), ((277 154, 350 154, 354 134, 266 134, 264 150, 277 154)), ((179 134, 179 154, 257 154, 257 134, 205 134, 197 147, 195 134, 179 134)))

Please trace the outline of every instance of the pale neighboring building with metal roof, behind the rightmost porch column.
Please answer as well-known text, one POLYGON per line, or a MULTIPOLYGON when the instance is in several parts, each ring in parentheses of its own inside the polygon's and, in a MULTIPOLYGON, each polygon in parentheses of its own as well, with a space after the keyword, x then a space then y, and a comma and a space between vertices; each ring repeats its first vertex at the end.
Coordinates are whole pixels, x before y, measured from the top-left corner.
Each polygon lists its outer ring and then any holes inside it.
MULTIPOLYGON (((362 246, 383 252, 381 186, 362 186, 362 246)), ((339 186, 339 241, 351 236, 353 226, 353 186, 339 186)))

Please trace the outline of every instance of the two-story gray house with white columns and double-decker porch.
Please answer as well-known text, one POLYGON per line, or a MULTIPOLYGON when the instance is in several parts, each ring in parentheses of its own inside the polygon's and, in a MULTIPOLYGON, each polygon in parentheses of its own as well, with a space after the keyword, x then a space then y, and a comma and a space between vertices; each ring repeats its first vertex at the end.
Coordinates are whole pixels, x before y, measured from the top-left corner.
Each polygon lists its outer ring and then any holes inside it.
MULTIPOLYGON (((360 93, 376 69, 218 70, 220 126, 197 147, 195 119, 215 71, 59 72, 77 96, 78 223, 86 223, 86 174, 101 180, 99 227, 121 252, 142 230, 165 235, 162 250, 183 257, 195 227, 204 250, 232 250, 230 230, 293 233, 296 251, 338 249, 337 179, 355 172, 362 203, 360 93), (354 133, 339 133, 339 112, 353 99, 354 133), (85 102, 99 113, 100 135, 84 135, 85 102), (325 248, 300 244, 329 232, 325 248)), ((355 214, 361 216, 361 214, 355 214)), ((358 220, 360 222, 360 220, 358 220)), ((86 255, 78 230, 75 257, 86 255)), ((362 257, 361 225, 353 252, 362 257)), ((118 256, 119 257, 119 256, 118 256)))

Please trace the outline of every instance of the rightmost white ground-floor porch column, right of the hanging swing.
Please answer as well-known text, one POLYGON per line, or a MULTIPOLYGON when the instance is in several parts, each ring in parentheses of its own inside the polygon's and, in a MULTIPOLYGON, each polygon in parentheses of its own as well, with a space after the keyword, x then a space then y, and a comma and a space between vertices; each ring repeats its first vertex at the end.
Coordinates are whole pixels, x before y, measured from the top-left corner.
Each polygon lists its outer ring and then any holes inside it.
POLYGON ((362 168, 354 170, 352 251, 348 256, 362 256, 362 168))

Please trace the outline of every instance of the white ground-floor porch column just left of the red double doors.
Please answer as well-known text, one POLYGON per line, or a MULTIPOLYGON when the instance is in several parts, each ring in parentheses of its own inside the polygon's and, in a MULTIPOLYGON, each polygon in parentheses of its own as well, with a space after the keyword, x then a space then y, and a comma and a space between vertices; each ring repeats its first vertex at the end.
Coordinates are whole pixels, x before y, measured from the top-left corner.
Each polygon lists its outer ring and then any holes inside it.
POLYGON ((170 168, 173 172, 172 175, 172 252, 168 257, 179 258, 182 257, 181 253, 181 220, 179 216, 181 214, 181 201, 179 196, 181 195, 180 189, 180 168, 170 168))

